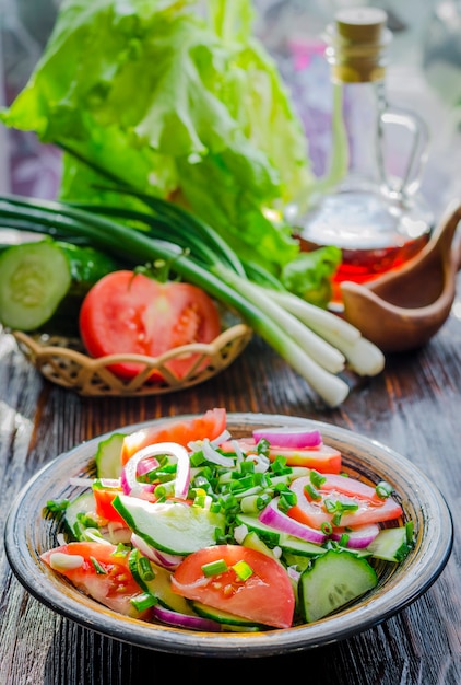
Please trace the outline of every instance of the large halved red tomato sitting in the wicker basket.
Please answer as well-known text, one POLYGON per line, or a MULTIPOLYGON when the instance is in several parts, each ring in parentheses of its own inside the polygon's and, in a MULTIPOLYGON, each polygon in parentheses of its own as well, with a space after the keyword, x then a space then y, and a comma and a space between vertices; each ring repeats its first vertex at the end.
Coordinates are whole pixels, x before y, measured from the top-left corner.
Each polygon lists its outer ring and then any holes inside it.
MULTIPOLYGON (((123 352, 158 357, 181 345, 211 342, 220 333, 217 307, 201 288, 161 283, 128 270, 97 281, 80 310, 80 334, 92 357, 123 352)), ((181 379, 194 363, 197 355, 188 355, 173 359, 167 368, 181 379)), ((139 363, 110 367, 121 378, 132 378, 142 368, 139 363)))

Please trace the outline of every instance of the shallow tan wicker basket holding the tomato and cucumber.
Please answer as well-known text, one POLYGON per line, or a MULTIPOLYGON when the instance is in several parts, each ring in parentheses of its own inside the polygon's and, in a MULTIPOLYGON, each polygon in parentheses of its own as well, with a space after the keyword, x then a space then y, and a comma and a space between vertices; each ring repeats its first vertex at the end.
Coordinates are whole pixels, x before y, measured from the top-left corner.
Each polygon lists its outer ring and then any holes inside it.
POLYGON ((141 396, 170 393, 208 381, 226 369, 248 345, 252 332, 243 323, 225 329, 209 344, 192 344, 177 347, 159 357, 141 355, 110 355, 94 359, 85 355, 79 339, 27 335, 12 332, 20 349, 42 374, 80 395, 92 396, 141 396), (184 355, 197 355, 189 372, 178 379, 167 368, 167 362, 184 355), (131 379, 121 379, 110 371, 115 363, 137 362, 142 370, 131 379), (156 370, 163 381, 150 381, 156 370))

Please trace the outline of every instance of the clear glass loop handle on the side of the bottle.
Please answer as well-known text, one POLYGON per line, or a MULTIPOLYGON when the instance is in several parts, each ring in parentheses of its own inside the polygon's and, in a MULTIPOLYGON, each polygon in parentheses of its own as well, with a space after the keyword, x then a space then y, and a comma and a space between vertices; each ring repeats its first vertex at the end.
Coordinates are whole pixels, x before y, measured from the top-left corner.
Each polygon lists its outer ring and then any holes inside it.
MULTIPOLYGON (((429 132, 427 126, 417 114, 398 107, 387 107, 379 118, 379 155, 381 181, 389 197, 393 200, 404 200, 416 193, 421 184, 424 165, 427 160, 429 132), (400 127, 410 132, 410 148, 404 167, 398 174, 388 171, 386 162, 386 129, 400 127)), ((401 149, 400 149, 401 150, 401 149)))

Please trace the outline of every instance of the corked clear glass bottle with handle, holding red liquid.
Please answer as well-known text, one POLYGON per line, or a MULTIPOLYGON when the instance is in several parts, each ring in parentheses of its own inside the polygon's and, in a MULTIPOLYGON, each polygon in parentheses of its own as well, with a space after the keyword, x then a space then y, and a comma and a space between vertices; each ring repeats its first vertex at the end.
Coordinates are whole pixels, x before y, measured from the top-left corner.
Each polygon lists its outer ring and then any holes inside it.
POLYGON ((331 155, 294 223, 303 249, 336 245, 339 283, 365 282, 402 265, 426 244, 434 217, 418 194, 428 133, 413 113, 391 107, 385 77, 391 33, 376 8, 338 12, 327 27, 332 83, 331 155))

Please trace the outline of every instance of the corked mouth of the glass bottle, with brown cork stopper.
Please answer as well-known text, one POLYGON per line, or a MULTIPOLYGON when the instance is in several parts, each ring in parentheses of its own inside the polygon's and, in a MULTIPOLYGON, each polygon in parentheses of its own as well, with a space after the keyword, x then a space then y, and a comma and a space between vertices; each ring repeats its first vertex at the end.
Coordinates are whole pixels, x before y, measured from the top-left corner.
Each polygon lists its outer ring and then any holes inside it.
POLYGON ((368 82, 383 79, 387 47, 391 33, 387 13, 378 8, 341 10, 327 27, 327 58, 332 77, 342 82, 368 82))

